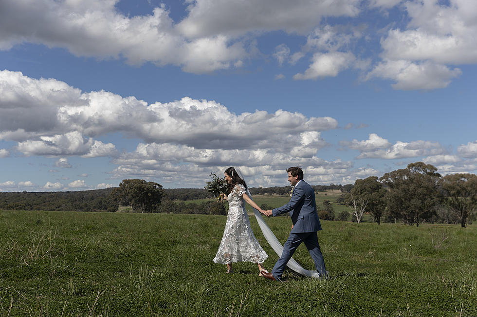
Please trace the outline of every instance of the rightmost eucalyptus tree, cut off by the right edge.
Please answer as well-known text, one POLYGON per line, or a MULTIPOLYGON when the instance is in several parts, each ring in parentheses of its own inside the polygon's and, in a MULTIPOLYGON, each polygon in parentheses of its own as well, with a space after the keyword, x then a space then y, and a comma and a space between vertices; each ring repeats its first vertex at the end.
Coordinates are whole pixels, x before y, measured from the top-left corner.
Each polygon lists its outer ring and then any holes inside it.
POLYGON ((467 218, 477 209, 477 175, 446 175, 440 179, 440 187, 444 204, 459 215, 460 225, 464 228, 467 218))

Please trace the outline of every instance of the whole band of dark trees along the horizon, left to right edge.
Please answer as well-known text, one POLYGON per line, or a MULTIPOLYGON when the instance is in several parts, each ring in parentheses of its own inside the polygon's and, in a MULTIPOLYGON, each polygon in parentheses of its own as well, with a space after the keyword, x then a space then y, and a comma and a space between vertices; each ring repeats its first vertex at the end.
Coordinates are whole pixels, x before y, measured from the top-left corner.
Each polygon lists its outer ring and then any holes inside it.
MULTIPOLYGON (((441 176, 437 168, 422 162, 385 173, 381 178, 370 176, 354 184, 314 185, 315 192, 340 190, 336 203, 349 211, 334 214, 330 200, 317 206, 324 220, 345 221, 351 215, 356 222, 369 214, 373 221, 401 222, 419 226, 428 223, 459 223, 465 227, 476 220, 477 175, 469 173, 441 176)), ((250 188, 252 195, 289 195, 291 186, 250 188)), ((0 193, 0 209, 109 211, 119 205, 132 212, 187 213, 225 215, 220 201, 189 202, 212 198, 202 188, 164 189, 162 185, 140 179, 123 180, 118 187, 76 192, 0 193), (182 200, 182 201, 178 201, 182 200)), ((263 204, 262 209, 271 209, 263 204)))

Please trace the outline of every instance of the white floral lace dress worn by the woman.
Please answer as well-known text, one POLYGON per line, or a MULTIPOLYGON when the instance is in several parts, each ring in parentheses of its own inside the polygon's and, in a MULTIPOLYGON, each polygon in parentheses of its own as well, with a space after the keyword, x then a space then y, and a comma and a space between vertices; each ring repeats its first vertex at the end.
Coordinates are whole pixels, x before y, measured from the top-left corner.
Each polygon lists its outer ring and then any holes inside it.
POLYGON ((250 227, 245 200, 242 198, 245 192, 245 187, 237 184, 227 198, 229 212, 215 263, 263 263, 268 258, 250 227))

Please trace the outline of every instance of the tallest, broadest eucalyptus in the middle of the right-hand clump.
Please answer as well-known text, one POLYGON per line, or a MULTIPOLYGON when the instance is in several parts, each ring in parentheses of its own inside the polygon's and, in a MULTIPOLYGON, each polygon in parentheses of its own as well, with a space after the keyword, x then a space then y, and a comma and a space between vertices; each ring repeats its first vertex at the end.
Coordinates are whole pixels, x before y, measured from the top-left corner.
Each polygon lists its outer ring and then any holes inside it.
POLYGON ((439 179, 437 168, 422 162, 385 173, 380 181, 388 188, 385 199, 390 215, 419 226, 440 203, 439 179))

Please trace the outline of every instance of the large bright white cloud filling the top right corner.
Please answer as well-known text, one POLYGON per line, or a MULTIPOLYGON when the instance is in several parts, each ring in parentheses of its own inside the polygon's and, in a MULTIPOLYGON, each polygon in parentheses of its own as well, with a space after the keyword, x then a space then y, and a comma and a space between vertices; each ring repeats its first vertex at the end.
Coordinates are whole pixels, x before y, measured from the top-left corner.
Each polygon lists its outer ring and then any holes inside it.
POLYGON ((477 63, 475 1, 407 1, 409 30, 390 30, 382 40, 387 59, 431 60, 437 64, 477 63))

